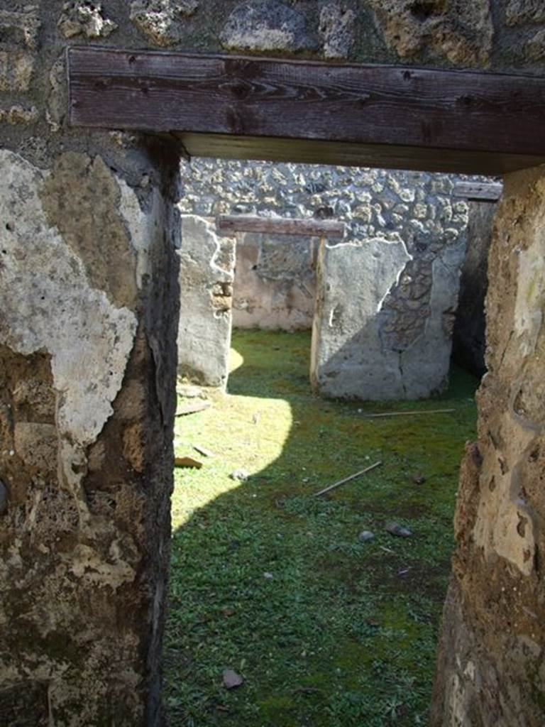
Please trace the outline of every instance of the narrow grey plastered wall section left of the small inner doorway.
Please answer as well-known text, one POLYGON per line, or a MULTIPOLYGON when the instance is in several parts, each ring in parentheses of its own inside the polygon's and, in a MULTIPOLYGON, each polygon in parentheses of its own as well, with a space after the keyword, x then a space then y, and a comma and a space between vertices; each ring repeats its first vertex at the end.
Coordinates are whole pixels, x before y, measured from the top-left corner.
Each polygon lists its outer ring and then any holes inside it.
POLYGON ((178 374, 225 388, 233 307, 235 240, 214 220, 182 215, 179 255, 178 374))

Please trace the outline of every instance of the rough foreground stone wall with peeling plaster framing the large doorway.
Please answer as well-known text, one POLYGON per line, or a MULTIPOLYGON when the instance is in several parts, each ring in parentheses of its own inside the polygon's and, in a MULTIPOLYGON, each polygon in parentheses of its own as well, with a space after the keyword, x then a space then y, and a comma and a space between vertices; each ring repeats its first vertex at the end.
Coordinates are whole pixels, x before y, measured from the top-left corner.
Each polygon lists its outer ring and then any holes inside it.
MULTIPOLYGON (((129 134, 66 128, 65 46, 95 42, 545 73, 545 17, 535 0, 3 0, 0 713, 10 727, 161 721, 158 654, 169 557, 178 301, 171 164, 178 150, 129 134)), ((541 198, 528 194, 526 204, 521 193, 520 211, 531 217, 541 198)), ((518 238, 524 228, 518 217, 507 210, 503 219, 518 238)), ((523 254, 532 240, 538 244, 536 235, 520 238, 522 278, 535 262, 523 254)), ((511 279, 514 263, 505 257, 510 243, 506 236, 501 241, 496 262, 511 279)), ((496 398, 483 393, 482 421, 493 424, 496 438, 499 419, 509 417, 516 436, 541 436, 534 411, 542 385, 533 348, 541 346, 541 334, 533 337, 541 321, 536 294, 539 287, 530 286, 517 304, 509 297, 505 302, 522 333, 509 341, 503 360, 493 353, 496 398), (533 316, 525 316, 527 308, 533 316), (528 350, 516 349, 521 339, 528 350), (516 392, 509 417, 508 391, 516 392)), ((502 300, 498 295, 492 315, 504 312, 502 300)), ((507 325, 496 318, 493 347, 496 337, 506 340, 507 325)), ((518 475, 525 482, 522 496, 539 521, 540 450, 523 449, 527 440, 520 438, 515 452, 509 425, 500 434, 501 461, 507 467, 517 461, 509 470, 513 482, 518 475)), ((497 470, 485 436, 483 479, 495 473, 505 483, 501 478, 509 475, 497 470)), ((501 507, 503 487, 494 501, 501 507)), ((479 522, 504 522, 493 513, 480 510, 479 522)), ((470 510, 467 520, 472 516, 470 510)), ((528 523, 530 518, 518 523, 519 537, 525 541, 533 533, 540 553, 541 531, 528 523)), ((506 553, 502 538, 498 526, 491 542, 506 553)), ((530 557, 536 564, 530 574, 514 570, 513 577, 507 569, 519 569, 519 556, 512 566, 504 566, 504 555, 494 557, 486 575, 481 555, 475 569, 459 561, 451 601, 453 632, 460 639, 467 635, 468 659, 481 666, 488 658, 483 644, 491 648, 493 671, 479 672, 487 679, 485 699, 471 699, 472 667, 465 656, 464 673, 456 663, 445 663, 441 673, 458 723, 475 723, 473 709, 484 715, 483 724, 492 723, 488 714, 503 710, 509 727, 522 724, 525 714, 526 725, 537 725, 533 701, 540 697, 542 667, 536 643, 544 615, 536 598, 539 559, 530 557), (462 587, 470 590, 467 580, 460 585, 464 579, 478 581, 481 601, 458 597, 462 587), (490 636, 495 632, 501 632, 498 640, 490 636), (498 656, 498 643, 506 656, 498 656), (503 694, 496 687, 505 684, 503 694)), ((522 566, 528 569, 528 561, 522 566)), ((455 722, 446 716, 443 723, 455 722)))

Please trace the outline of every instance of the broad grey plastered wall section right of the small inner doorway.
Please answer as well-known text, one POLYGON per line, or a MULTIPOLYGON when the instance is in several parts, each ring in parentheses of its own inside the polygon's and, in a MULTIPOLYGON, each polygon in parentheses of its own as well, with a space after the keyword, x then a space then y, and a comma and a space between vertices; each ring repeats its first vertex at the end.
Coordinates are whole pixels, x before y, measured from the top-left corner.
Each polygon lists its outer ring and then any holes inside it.
POLYGON ((399 284, 413 266, 403 241, 324 244, 312 329, 313 389, 363 400, 421 398, 442 390, 464 249, 463 241, 433 257, 428 270, 416 273, 421 283, 416 279, 412 297, 411 288, 399 284), (405 340, 408 335, 412 340, 405 340))

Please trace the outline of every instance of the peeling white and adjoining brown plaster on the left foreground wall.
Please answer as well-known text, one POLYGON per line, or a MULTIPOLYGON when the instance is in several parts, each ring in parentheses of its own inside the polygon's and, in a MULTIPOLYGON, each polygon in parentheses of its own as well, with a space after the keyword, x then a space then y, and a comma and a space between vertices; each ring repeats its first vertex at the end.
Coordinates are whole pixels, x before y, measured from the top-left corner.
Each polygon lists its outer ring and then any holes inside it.
MULTIPOLYGON (((1 218, 7 221, 1 230, 0 341, 25 356, 36 351, 51 356, 62 481, 76 493, 81 474, 73 465, 84 465, 85 448, 96 440, 113 411, 136 333, 134 312, 116 299, 134 305, 137 284, 131 281, 134 253, 123 249, 129 244, 123 218, 115 206, 106 209, 111 199, 102 198, 102 230, 97 230, 100 209, 94 208, 92 218, 85 220, 73 218, 76 210, 70 205, 77 207, 78 193, 86 196, 97 182, 92 177, 86 188, 80 175, 84 168, 100 169, 102 183, 110 187, 116 188, 118 182, 102 161, 84 155, 66 155, 48 173, 3 150, 0 168, 1 218), (57 184, 70 189, 70 201, 57 184), (52 224, 52 210, 53 217, 62 212, 64 234, 52 224), (110 253, 115 249, 110 243, 118 236, 119 258, 114 254, 110 265, 124 261, 121 274, 130 281, 130 295, 110 285, 113 300, 109 300, 97 287, 96 276, 94 280, 89 276, 93 265, 100 267, 99 233, 108 241, 110 253), (70 236, 77 236, 79 248, 74 240, 68 241, 70 236), (84 253, 84 260, 78 252, 84 253)), ((103 186, 100 190, 105 192, 103 186)), ((124 197, 128 210, 128 190, 124 197)), ((134 204, 131 208, 134 214, 134 204)))

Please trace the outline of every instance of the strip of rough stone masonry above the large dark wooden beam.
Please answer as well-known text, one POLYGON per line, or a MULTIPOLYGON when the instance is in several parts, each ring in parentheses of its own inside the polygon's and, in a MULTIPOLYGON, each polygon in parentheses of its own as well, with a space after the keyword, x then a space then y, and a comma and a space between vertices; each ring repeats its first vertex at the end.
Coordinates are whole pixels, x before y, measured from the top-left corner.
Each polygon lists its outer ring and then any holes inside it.
MULTIPOLYGON (((5 1, 6 15, 52 11, 56 32, 76 42, 121 44, 124 35, 126 45, 156 49, 529 73, 545 68, 539 0, 5 1)), ((32 29, 10 22, 9 38, 31 37, 32 29)))

